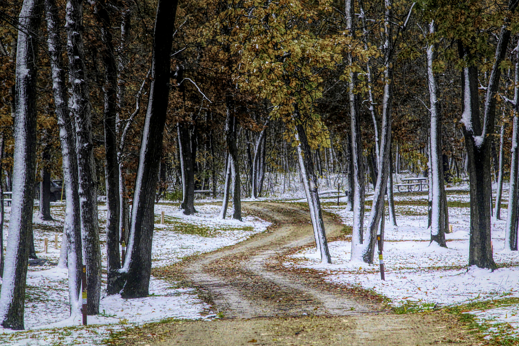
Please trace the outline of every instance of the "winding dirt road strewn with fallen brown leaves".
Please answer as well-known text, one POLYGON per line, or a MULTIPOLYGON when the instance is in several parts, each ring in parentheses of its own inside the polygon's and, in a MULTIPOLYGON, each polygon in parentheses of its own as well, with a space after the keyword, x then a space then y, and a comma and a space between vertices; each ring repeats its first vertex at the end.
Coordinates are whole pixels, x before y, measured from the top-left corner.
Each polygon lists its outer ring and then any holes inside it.
MULTIPOLYGON (((279 256, 313 243, 308 212, 284 203, 244 204, 273 222, 268 232, 210 254, 182 268, 225 316, 211 322, 175 322, 149 327, 149 345, 430 345, 475 344, 440 314, 393 315, 381 304, 334 289, 315 277, 279 269, 279 256), (159 339, 159 340, 157 340, 159 339)), ((343 225, 325 216, 329 238, 343 225)), ((452 317, 450 317, 452 319, 452 317)), ((146 332, 146 331, 145 331, 146 332)), ((145 333, 144 332, 144 333, 145 333)), ((140 333, 140 334, 144 334, 140 333)), ((127 344, 122 342, 121 344, 127 344)))

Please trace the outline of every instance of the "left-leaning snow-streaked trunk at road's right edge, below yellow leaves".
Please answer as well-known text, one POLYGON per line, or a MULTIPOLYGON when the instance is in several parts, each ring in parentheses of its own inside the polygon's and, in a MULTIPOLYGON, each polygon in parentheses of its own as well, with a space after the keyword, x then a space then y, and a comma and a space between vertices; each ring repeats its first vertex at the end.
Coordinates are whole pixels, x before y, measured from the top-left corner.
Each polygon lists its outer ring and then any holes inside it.
POLYGON ((303 178, 303 185, 305 188, 306 198, 308 201, 308 208, 310 209, 310 218, 313 225, 313 235, 316 239, 316 246, 321 255, 321 263, 332 263, 330 251, 328 249, 328 242, 326 239, 326 231, 324 230, 324 221, 321 210, 321 202, 319 201, 319 191, 317 176, 313 168, 312 153, 306 131, 303 124, 297 124, 301 118, 297 114, 297 107, 295 108, 295 129, 297 145, 297 156, 299 161, 299 168, 303 178))

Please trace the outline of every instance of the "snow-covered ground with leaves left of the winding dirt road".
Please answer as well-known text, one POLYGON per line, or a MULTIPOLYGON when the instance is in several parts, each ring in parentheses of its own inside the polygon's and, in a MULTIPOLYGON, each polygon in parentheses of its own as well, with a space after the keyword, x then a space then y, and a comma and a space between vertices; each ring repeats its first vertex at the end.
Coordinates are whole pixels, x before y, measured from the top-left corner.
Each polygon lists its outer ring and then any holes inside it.
MULTIPOLYGON (((236 244, 252 234, 263 232, 268 223, 254 217, 243 222, 217 219, 220 208, 215 205, 197 205, 196 216, 185 216, 178 204, 158 204, 155 207, 156 224, 153 239, 152 266, 170 265, 185 256, 208 252, 236 244), (165 224, 160 224, 161 211, 165 224)), ((6 208, 8 219, 10 207, 6 208)), ((101 314, 88 316, 89 326, 81 326, 81 316, 69 317, 68 280, 66 270, 56 267, 60 250, 54 246, 54 235, 61 242, 64 205, 51 208, 55 221, 38 221, 34 214, 35 247, 39 258, 47 265, 29 267, 25 304, 25 331, 0 328, 2 345, 92 345, 101 344, 112 332, 165 318, 200 319, 216 315, 209 311, 193 290, 172 286, 152 277, 150 296, 142 299, 121 299, 120 296, 102 297, 101 314), (44 252, 44 238, 49 239, 48 253, 44 252)), ((99 207, 100 223, 106 219, 106 207, 99 207)), ((106 237, 101 230, 101 251, 106 261, 106 237)), ((5 236, 7 238, 7 235, 5 236)), ((103 264, 106 268, 106 262, 103 264)), ((103 285, 106 285, 104 275, 103 285)))

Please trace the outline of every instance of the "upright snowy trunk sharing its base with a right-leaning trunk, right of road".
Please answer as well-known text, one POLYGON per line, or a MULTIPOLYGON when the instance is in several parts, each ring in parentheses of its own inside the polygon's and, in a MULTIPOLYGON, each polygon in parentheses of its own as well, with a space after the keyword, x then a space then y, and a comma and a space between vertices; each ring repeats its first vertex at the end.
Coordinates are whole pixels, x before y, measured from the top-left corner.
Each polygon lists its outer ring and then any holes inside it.
MULTIPOLYGON (((353 0, 347 0, 346 7, 346 23, 348 29, 353 29, 354 11, 353 0)), ((362 11, 362 9, 361 9, 362 11)), ((351 30, 353 35, 353 30, 351 30)), ((348 55, 348 63, 353 65, 353 57, 348 55)), ((362 258, 362 246, 364 242, 364 161, 362 155, 362 139, 361 139, 361 116, 359 112, 359 95, 354 93, 356 90, 357 75, 350 72, 348 79, 348 98, 350 104, 350 129, 351 129, 351 165, 353 190, 353 230, 351 236, 351 260, 360 261, 362 258)))

